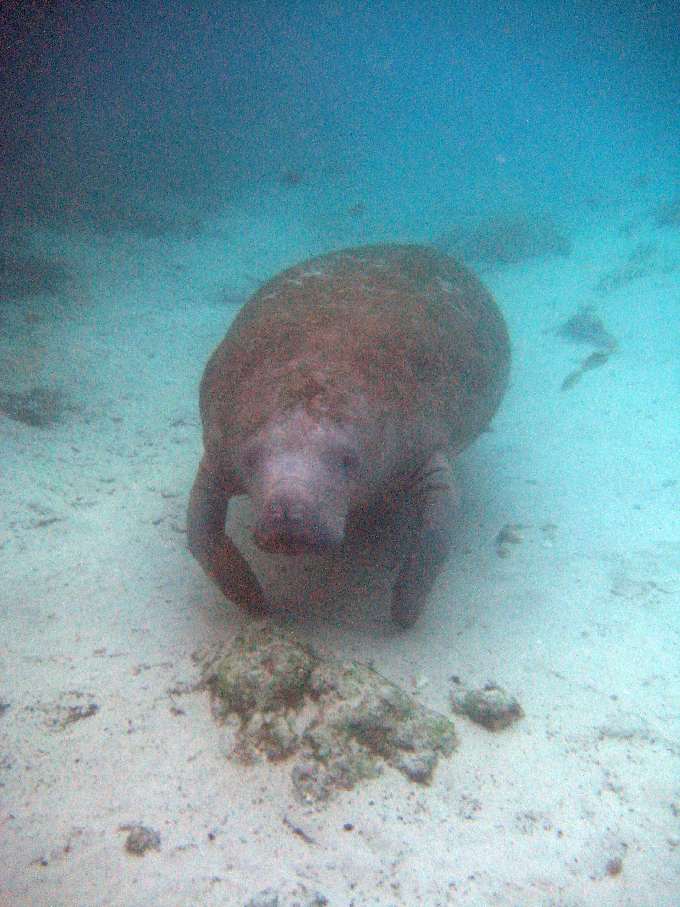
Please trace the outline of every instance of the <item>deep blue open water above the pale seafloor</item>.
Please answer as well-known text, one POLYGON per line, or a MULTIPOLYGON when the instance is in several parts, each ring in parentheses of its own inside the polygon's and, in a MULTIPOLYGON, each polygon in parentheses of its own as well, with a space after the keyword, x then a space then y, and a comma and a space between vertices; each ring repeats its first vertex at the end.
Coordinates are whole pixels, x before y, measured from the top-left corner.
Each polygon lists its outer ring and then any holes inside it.
POLYGON ((461 207, 677 189, 670 2, 7 6, 5 216, 208 206, 287 169, 461 207))

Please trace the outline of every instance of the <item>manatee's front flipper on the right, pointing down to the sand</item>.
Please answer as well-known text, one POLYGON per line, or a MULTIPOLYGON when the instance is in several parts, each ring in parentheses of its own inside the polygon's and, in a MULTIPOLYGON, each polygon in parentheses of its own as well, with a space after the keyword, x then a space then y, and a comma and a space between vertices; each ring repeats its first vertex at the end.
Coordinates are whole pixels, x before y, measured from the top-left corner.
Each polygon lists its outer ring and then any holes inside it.
POLYGON ((425 463, 407 493, 416 504, 418 532, 394 585, 392 619, 400 629, 418 619, 451 548, 457 496, 444 457, 437 454, 425 463))

